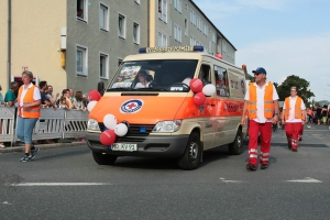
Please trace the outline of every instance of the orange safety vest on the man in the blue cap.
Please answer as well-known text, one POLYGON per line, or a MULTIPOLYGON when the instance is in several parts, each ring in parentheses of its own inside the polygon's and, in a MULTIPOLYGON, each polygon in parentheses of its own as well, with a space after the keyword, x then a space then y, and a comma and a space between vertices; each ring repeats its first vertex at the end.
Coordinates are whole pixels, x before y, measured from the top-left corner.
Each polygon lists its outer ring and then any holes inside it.
MULTIPOLYGON (((256 87, 254 84, 250 84, 249 87, 250 100, 248 105, 248 112, 250 119, 256 118, 256 87)), ((273 84, 268 81, 265 88, 264 96, 264 116, 266 119, 272 119, 274 117, 274 100, 273 100, 273 84)))

